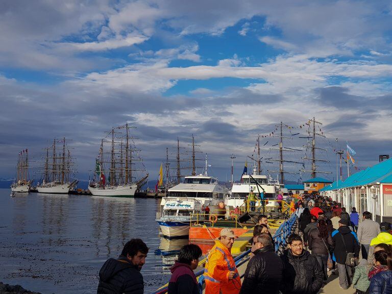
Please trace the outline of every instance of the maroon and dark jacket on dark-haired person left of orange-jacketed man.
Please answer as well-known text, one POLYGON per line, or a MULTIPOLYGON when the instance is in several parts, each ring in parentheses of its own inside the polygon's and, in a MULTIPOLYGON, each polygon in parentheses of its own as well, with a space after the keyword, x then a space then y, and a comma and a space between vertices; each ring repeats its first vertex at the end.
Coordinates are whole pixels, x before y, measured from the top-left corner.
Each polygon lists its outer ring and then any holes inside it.
POLYGON ((168 294, 199 294, 199 285, 190 266, 178 261, 170 268, 168 294))

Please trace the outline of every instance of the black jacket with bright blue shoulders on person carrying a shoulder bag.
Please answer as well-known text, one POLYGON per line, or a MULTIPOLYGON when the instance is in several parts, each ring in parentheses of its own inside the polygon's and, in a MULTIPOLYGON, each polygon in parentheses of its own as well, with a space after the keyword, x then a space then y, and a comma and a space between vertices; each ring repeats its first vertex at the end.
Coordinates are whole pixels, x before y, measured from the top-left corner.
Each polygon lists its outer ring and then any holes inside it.
POLYGON ((338 230, 332 232, 332 239, 335 242, 335 249, 333 251, 332 259, 340 264, 346 263, 347 252, 353 252, 355 257, 359 257, 360 246, 357 239, 357 234, 350 230, 347 226, 342 226, 338 230), (345 238, 346 249, 341 238, 345 238))

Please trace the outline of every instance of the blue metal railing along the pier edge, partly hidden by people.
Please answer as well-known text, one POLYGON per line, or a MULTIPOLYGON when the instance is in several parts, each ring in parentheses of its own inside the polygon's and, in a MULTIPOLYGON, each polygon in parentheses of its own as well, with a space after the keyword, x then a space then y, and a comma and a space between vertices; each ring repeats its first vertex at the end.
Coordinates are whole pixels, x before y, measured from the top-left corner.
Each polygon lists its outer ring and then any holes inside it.
MULTIPOLYGON (((297 221, 297 214, 293 213, 289 219, 287 219, 282 225, 280 225, 280 227, 274 234, 273 239, 275 242, 275 252, 277 254, 283 253, 283 249, 286 247, 287 244, 287 238, 292 233, 293 229, 295 229, 295 224, 297 223, 296 221, 297 221)), ((237 268, 249 261, 250 253, 251 253, 251 249, 241 253, 240 255, 234 258, 234 262, 237 268)), ((205 283, 203 274, 204 274, 204 268, 200 269, 200 271, 195 273, 195 276, 198 279, 200 293, 203 292, 203 287, 205 283)), ((244 274, 241 275, 241 278, 243 278, 243 276, 244 274)), ((151 294, 165 294, 167 293, 167 287, 168 284, 162 286, 161 288, 152 292, 151 294)))

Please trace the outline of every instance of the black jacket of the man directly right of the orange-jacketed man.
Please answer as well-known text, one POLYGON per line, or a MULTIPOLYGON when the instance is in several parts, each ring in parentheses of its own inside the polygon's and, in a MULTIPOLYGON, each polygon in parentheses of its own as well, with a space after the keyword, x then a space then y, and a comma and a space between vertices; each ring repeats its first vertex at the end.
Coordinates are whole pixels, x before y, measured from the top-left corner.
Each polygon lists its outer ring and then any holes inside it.
POLYGON ((283 262, 272 246, 260 248, 249 261, 240 294, 277 294, 283 280, 283 262))

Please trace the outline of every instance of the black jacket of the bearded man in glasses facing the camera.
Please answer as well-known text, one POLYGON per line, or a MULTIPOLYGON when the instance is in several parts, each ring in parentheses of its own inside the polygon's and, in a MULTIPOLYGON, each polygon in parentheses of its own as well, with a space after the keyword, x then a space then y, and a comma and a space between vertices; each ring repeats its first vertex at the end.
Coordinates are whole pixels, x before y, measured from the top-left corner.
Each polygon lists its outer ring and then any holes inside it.
POLYGON ((284 264, 283 294, 316 294, 324 282, 323 269, 316 257, 304 250, 294 256, 290 249, 281 256, 284 264))

